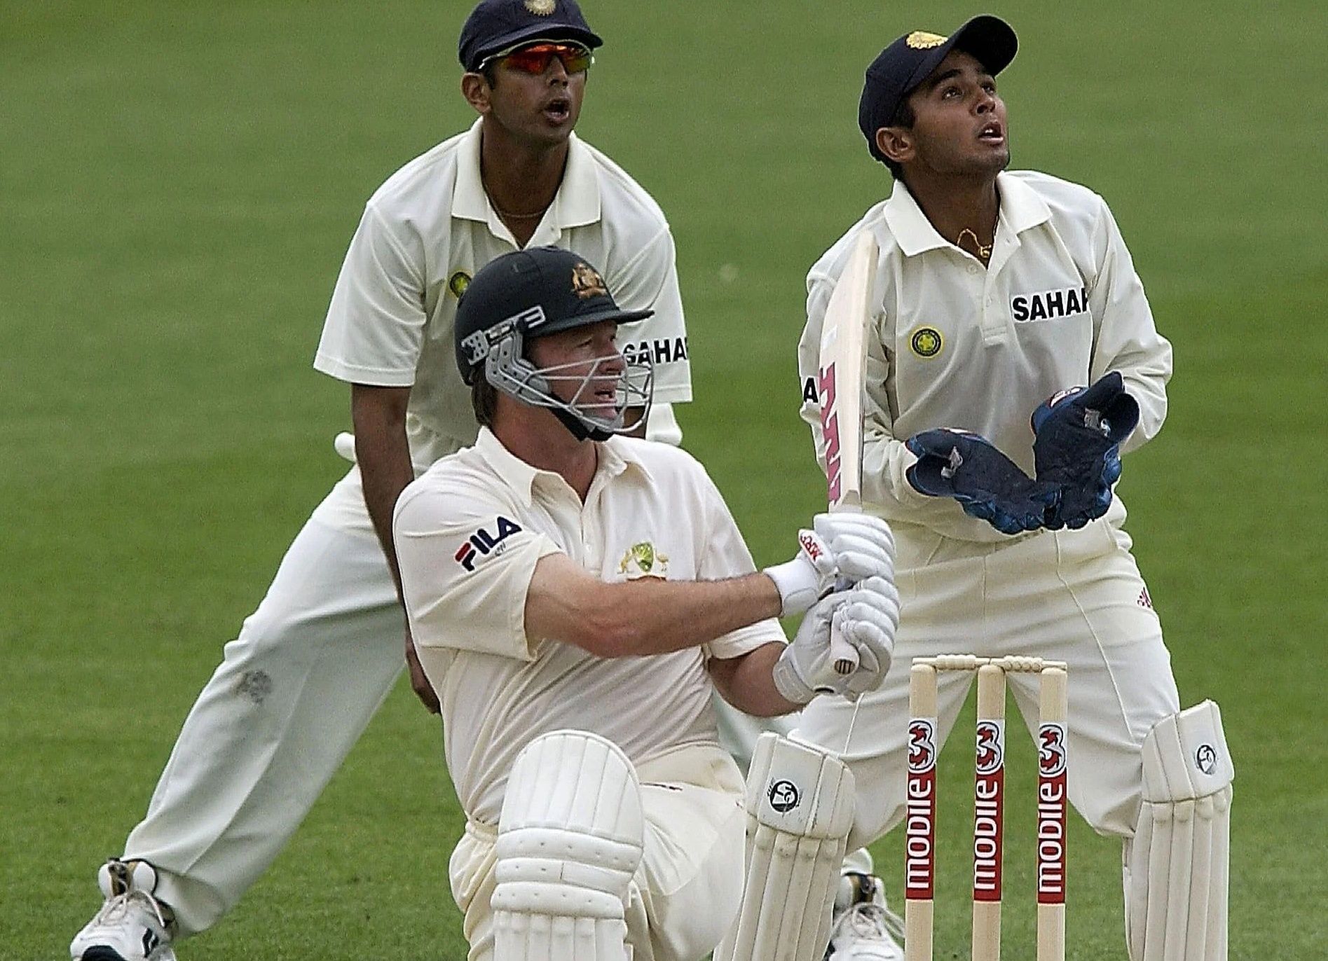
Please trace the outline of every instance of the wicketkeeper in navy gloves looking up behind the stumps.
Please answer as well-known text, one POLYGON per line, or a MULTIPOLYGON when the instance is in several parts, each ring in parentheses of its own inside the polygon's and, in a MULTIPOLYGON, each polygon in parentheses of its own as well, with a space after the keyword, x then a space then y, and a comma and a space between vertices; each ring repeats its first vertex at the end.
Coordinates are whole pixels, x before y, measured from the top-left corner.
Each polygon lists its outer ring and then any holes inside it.
MULTIPOLYGON (((866 70, 859 127, 894 190, 811 267, 798 358, 823 461, 822 317, 870 231, 862 499, 895 532, 903 615, 896 666, 857 721, 853 705, 819 698, 795 737, 837 753, 847 743, 849 846, 866 844, 904 810, 911 658, 1066 661, 1069 798, 1123 844, 1130 957, 1219 961, 1234 767, 1216 705, 1181 710, 1113 487, 1121 455, 1162 426, 1171 348, 1105 200, 1007 170, 996 76, 1015 50, 1008 24, 979 16, 948 37, 912 31, 866 70)), ((942 741, 969 680, 940 677, 942 741)), ((1036 730, 1036 680, 1009 682, 1036 730)), ((841 905, 830 957, 899 957, 880 885, 858 880, 871 896, 841 905)))

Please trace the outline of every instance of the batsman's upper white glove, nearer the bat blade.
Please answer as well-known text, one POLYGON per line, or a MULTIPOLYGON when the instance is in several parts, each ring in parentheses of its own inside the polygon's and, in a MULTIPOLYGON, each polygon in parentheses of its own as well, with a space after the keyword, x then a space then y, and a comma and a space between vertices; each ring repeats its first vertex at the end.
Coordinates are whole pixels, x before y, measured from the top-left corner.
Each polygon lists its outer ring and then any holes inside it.
POLYGON ((765 568, 780 591, 781 615, 801 613, 837 579, 894 577, 895 539, 890 524, 870 514, 818 514, 814 530, 798 531, 798 556, 765 568))

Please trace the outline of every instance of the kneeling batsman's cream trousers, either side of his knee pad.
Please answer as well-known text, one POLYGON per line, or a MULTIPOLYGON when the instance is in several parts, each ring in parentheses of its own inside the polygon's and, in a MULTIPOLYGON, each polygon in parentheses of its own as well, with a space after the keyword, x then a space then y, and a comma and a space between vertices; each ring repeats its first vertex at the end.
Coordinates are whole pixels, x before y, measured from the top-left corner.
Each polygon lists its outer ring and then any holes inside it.
MULTIPOLYGON (((745 784, 721 747, 692 745, 636 766, 645 850, 625 907, 632 961, 701 961, 737 917, 746 838, 745 784)), ((452 896, 467 961, 494 961, 497 824, 466 823, 452 852, 452 896)))

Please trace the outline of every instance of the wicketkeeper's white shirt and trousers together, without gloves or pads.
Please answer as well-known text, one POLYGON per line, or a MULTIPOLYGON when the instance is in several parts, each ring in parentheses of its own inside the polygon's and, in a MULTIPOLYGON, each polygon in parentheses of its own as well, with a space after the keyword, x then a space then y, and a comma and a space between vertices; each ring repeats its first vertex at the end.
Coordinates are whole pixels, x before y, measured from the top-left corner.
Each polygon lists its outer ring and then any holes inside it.
MULTIPOLYGON (((997 187, 985 269, 932 228, 904 187, 870 210, 807 277, 799 368, 803 377, 814 372, 830 292, 854 239, 870 230, 880 255, 867 338, 863 507, 888 518, 896 536, 894 664, 956 649, 1065 661, 1070 802, 1098 834, 1130 838, 1142 803, 1141 745, 1179 710, 1179 696, 1120 528, 1120 499, 1080 530, 1009 538, 951 498, 918 494, 904 477, 914 462, 904 441, 932 427, 977 431, 1032 473, 1033 410, 1110 370, 1139 404, 1126 447, 1157 434, 1166 414, 1171 348, 1154 328, 1106 203, 1037 173, 1000 174, 997 187)), ((815 418, 815 397, 805 398, 803 415, 815 418)), ((959 676, 942 681, 939 731, 951 729, 967 685, 959 676)), ((1012 674, 1009 685, 1033 727, 1036 678, 1012 674)), ((858 806, 849 847, 872 842, 904 814, 907 710, 908 672, 896 669, 861 698, 861 710, 817 698, 802 713, 798 737, 822 747, 838 749, 853 731, 858 806)))

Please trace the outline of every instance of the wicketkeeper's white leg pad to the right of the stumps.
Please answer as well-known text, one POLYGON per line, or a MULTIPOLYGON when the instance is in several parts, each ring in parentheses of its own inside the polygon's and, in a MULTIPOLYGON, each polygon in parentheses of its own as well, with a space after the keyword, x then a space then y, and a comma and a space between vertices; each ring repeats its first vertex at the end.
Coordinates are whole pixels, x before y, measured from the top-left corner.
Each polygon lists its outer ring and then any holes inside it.
POLYGON ((1143 739, 1143 806, 1125 846, 1133 961, 1224 961, 1227 847, 1235 767, 1212 701, 1143 739))

